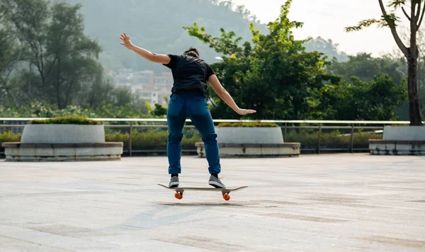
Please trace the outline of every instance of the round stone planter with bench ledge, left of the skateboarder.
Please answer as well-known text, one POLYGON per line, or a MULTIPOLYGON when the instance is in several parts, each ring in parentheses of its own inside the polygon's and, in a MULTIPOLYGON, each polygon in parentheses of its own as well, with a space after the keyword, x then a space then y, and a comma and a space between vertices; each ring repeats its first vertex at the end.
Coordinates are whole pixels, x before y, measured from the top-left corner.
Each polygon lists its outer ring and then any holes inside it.
POLYGON ((3 143, 6 161, 120 160, 123 143, 105 142, 103 125, 26 125, 21 142, 3 143))

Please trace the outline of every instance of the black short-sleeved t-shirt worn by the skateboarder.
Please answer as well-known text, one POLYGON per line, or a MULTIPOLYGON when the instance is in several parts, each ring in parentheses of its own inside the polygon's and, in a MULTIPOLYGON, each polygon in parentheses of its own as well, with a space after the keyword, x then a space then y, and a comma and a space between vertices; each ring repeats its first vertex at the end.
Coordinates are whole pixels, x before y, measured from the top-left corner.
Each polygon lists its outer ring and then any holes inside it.
POLYGON ((206 96, 207 81, 212 74, 211 67, 203 59, 187 55, 169 55, 171 61, 164 66, 171 69, 174 84, 171 93, 184 88, 199 88, 203 96, 206 96))

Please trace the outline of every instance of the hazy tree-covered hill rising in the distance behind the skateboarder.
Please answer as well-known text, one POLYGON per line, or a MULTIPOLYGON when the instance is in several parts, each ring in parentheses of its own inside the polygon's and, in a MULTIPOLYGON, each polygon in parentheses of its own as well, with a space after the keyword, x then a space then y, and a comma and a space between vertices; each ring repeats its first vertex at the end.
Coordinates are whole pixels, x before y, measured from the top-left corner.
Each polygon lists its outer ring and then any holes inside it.
MULTIPOLYGON (((198 23, 208 33, 220 35, 220 28, 233 30, 244 40, 251 40, 249 23, 253 20, 246 8, 232 10, 229 2, 213 0, 68 0, 82 4, 86 33, 103 46, 101 62, 109 69, 121 67, 137 70, 164 67, 147 62, 120 45, 119 35, 126 32, 135 45, 157 53, 179 54, 188 47, 198 47, 207 62, 217 62, 217 54, 182 26, 198 23)), ((266 25, 256 28, 267 33, 266 25)))

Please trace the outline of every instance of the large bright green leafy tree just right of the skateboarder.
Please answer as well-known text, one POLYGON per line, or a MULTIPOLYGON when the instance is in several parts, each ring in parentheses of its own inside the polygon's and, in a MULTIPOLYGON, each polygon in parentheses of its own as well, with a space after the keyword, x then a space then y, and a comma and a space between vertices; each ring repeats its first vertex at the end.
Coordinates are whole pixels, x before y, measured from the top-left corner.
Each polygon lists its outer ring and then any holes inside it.
MULTIPOLYGON (((205 28, 184 27, 189 35, 208 44, 223 55, 222 62, 212 64, 222 85, 235 101, 257 110, 252 118, 300 119, 315 115, 319 107, 317 91, 332 76, 324 69, 325 57, 319 52, 305 52, 307 40, 295 40, 293 29, 302 23, 290 21, 292 1, 286 1, 276 21, 268 23, 268 35, 251 24, 252 44, 235 38, 234 32, 221 29, 219 38, 205 33, 205 28)), ((338 79, 338 78, 336 78, 338 79)), ((216 118, 238 118, 212 93, 212 113, 216 118)))

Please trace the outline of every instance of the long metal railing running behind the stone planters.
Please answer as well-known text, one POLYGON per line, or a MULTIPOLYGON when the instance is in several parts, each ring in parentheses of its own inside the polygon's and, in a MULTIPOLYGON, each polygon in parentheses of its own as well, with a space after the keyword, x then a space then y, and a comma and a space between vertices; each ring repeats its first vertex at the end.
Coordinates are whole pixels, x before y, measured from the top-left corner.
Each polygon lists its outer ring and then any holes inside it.
MULTIPOLYGON (((25 125, 23 124, 13 124, 13 122, 29 122, 34 119, 48 119, 48 118, 0 118, 0 132, 4 128, 8 129, 23 129, 25 125), (8 122, 8 124, 6 124, 8 122)), ((132 132, 137 128, 145 129, 166 129, 166 119, 152 119, 152 118, 91 118, 92 120, 98 120, 103 122, 104 127, 106 128, 127 128, 129 130, 129 142, 128 149, 124 150, 124 153, 132 156, 135 153, 165 153, 166 150, 135 150, 132 149, 132 132), (119 124, 111 125, 111 122, 127 122, 129 124, 119 124), (140 125, 140 123, 162 123, 162 125, 140 125)), ((185 125, 185 128, 193 128, 194 126, 190 124, 191 120, 186 120, 188 124, 185 125)), ((256 120, 213 120, 215 124, 220 122, 257 122, 256 120)), ((317 130, 317 143, 314 147, 303 147, 301 144, 301 151, 304 153, 317 153, 322 152, 332 152, 332 151, 344 151, 351 152, 354 151, 369 151, 368 148, 355 148, 354 147, 354 135, 355 130, 370 130, 373 133, 382 133, 386 125, 409 125, 408 121, 335 121, 335 120, 261 120, 259 122, 273 122, 280 125, 280 128, 283 131, 283 139, 287 142, 288 130, 317 130), (372 126, 368 126, 372 125, 372 126), (322 134, 323 130, 348 130, 350 133, 350 144, 345 148, 329 148, 322 147, 322 134)), ((347 134, 344 134, 345 136, 347 134)), ((186 153, 196 153, 195 149, 183 150, 186 153)), ((4 154, 4 152, 0 152, 4 154)))

